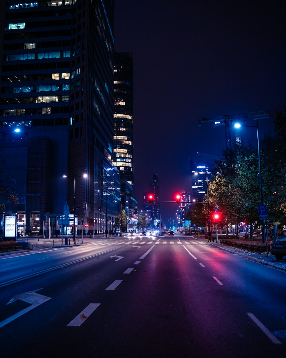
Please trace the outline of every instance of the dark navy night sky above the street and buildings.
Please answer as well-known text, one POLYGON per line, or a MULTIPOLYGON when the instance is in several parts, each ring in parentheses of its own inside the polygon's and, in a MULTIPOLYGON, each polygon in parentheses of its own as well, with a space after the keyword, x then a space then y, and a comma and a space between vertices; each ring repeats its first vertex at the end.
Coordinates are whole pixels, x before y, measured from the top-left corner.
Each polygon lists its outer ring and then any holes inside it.
MULTIPOLYGON (((285 105, 285 2, 115 0, 115 50, 133 52, 134 193, 191 190, 189 160, 221 155, 225 127, 197 118, 285 105)), ((273 119, 260 121, 260 134, 273 119)), ((247 123, 256 125, 256 122, 247 123)), ((234 130, 232 130, 232 137, 234 130)), ((256 130, 241 130, 241 139, 256 130)), ((176 204, 161 204, 162 221, 176 204)))

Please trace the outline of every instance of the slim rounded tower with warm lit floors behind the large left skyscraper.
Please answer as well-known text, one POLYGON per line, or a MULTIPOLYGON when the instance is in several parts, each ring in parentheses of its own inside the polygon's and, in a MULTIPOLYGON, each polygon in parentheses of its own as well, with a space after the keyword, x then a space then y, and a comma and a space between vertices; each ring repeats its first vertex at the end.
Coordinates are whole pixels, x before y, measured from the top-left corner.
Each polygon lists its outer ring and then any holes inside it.
POLYGON ((120 178, 133 187, 133 59, 132 53, 115 53, 114 161, 120 178))

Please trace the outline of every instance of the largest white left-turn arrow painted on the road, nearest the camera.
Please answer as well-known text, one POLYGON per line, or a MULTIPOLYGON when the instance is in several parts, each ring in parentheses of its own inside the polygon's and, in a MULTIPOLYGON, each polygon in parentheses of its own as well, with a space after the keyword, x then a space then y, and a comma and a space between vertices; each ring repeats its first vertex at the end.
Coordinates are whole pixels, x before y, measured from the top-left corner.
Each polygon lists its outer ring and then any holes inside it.
POLYGON ((36 308, 37 306, 41 305, 42 303, 48 301, 51 299, 51 297, 47 297, 47 296, 43 296, 43 295, 39 295, 38 293, 35 293, 36 291, 39 291, 41 289, 38 290, 34 290, 34 291, 29 291, 29 292, 24 292, 21 293, 19 295, 15 295, 8 303, 7 305, 9 305, 9 303, 12 303, 14 301, 17 300, 21 300, 27 303, 30 303, 31 306, 25 308, 24 310, 15 313, 13 316, 10 316, 8 318, 6 318, 4 321, 0 322, 0 327, 5 326, 5 324, 14 321, 14 319, 20 317, 21 315, 25 314, 26 312, 29 312, 30 310, 32 310, 33 308, 36 308))

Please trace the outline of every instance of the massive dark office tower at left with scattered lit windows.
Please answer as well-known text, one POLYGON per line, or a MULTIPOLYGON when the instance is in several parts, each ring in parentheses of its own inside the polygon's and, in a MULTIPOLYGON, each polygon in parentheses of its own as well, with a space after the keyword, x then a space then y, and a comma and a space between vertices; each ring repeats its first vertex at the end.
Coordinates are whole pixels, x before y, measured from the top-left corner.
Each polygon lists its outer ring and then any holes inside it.
POLYGON ((79 221, 89 231, 110 230, 120 210, 112 165, 114 1, 7 0, 5 15, 0 135, 9 165, 0 170, 2 185, 15 178, 24 231, 39 232, 49 217, 59 233, 64 205, 72 214, 74 201, 77 231, 79 221))

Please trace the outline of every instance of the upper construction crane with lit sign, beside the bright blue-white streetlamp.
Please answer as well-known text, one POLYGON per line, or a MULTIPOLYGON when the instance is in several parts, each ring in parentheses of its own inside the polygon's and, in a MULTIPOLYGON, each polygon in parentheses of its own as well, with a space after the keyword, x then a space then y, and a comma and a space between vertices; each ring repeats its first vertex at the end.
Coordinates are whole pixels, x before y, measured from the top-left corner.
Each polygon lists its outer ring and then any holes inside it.
MULTIPOLYGON (((226 149, 231 148, 231 135, 230 135, 230 125, 233 124, 234 121, 246 122, 247 120, 259 120, 262 118, 270 118, 275 117, 277 113, 282 110, 267 110, 267 111, 259 111, 259 112, 250 112, 250 113, 239 113, 239 114, 231 114, 224 115, 216 118, 201 118, 198 119, 198 126, 201 126, 202 123, 212 122, 213 127, 217 126, 225 126, 226 132, 226 149)), ((236 142, 240 144, 240 134, 236 132, 236 142)))

